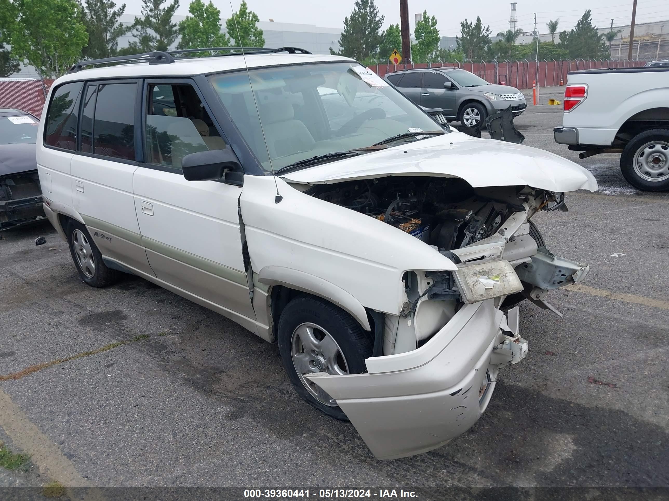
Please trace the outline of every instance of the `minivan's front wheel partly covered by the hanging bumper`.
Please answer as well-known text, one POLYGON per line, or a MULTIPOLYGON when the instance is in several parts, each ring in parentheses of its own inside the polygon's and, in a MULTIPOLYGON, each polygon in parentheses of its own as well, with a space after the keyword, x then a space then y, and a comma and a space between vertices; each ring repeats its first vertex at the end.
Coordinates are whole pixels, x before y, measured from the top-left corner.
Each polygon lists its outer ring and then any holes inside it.
POLYGON ((347 420, 337 401, 304 376, 365 371, 372 343, 359 323, 324 299, 299 296, 281 312, 277 341, 284 368, 298 395, 332 418, 347 420))

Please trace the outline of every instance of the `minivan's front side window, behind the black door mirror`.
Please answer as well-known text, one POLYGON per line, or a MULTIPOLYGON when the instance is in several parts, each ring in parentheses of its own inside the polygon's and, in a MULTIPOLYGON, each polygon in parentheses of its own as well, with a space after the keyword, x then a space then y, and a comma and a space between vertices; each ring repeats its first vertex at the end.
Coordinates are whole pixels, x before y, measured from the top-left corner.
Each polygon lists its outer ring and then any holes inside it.
POLYGON ((181 169, 187 154, 225 150, 225 140, 191 85, 150 84, 147 162, 181 169))

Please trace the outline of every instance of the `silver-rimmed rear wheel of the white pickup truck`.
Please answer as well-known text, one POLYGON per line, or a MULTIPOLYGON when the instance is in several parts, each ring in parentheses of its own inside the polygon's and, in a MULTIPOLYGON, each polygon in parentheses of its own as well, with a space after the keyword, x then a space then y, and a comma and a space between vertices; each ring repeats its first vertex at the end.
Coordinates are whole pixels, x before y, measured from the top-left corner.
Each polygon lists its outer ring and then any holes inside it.
POLYGON ((620 170, 635 188, 669 190, 669 129, 650 129, 637 134, 625 146, 620 170))

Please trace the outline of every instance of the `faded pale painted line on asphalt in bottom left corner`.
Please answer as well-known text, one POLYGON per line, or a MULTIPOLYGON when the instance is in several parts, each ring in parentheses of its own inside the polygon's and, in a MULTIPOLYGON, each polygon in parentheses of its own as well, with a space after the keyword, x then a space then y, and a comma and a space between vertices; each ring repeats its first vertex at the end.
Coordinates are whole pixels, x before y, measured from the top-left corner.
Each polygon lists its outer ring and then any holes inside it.
MULTIPOLYGON (((66 487, 66 494, 72 501, 79 501, 70 488, 91 487, 76 470, 74 463, 66 458, 60 448, 31 422, 21 407, 0 389, 0 426, 11 442, 39 468, 39 472, 60 482, 66 487)), ((86 500, 102 500, 97 489, 86 491, 86 500)))

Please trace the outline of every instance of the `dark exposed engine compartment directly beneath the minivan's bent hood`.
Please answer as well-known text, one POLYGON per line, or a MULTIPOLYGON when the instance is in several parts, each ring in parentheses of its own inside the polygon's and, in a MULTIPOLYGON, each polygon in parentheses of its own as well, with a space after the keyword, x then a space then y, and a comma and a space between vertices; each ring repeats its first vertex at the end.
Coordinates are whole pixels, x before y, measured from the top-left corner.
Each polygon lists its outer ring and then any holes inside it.
MULTIPOLYGON (((566 210, 563 194, 527 187, 475 190, 461 179, 386 177, 320 184, 307 191, 387 222, 439 251, 452 251, 488 238, 523 203, 545 210, 566 210)), ((531 215, 530 214, 530 215, 531 215)))

